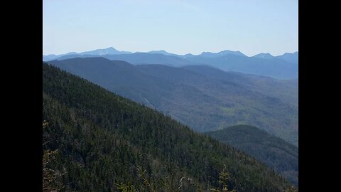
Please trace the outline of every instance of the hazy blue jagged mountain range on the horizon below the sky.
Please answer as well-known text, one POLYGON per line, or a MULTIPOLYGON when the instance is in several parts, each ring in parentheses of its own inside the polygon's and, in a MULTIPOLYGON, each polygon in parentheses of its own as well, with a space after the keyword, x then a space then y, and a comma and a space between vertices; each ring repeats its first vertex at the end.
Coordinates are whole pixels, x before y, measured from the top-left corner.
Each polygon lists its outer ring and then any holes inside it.
POLYGON ((124 60, 134 65, 162 64, 174 67, 188 65, 209 65, 224 71, 234 71, 255 75, 264 75, 278 79, 298 78, 298 52, 273 56, 260 53, 248 57, 240 51, 222 50, 219 53, 202 52, 200 55, 177 55, 166 50, 152 50, 148 53, 131 53, 115 48, 104 48, 82 53, 66 53, 62 55, 43 55, 43 61, 65 60, 70 58, 104 57, 109 60, 124 60))

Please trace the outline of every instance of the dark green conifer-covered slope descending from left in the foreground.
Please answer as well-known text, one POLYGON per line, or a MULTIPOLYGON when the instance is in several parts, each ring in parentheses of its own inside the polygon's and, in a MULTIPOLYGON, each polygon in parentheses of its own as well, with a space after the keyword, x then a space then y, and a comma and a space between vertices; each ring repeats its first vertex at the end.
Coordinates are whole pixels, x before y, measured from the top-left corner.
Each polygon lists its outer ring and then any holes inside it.
POLYGON ((223 164, 229 188, 237 191, 290 188, 243 152, 46 64, 43 119, 48 122, 43 149, 58 149, 48 166, 61 174, 61 191, 117 191, 115 183, 121 182, 144 188, 141 177, 155 191, 177 191, 183 176, 192 179, 185 191, 206 191, 219 185, 223 164), (138 167, 146 170, 145 177, 138 167))

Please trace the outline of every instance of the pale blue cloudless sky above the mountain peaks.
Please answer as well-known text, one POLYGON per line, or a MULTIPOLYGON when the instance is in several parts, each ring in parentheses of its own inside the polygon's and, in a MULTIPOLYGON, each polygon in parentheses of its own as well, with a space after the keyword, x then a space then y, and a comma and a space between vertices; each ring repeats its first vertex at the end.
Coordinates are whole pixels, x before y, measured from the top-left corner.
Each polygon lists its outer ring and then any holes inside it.
POLYGON ((298 50, 298 0, 43 0, 43 55, 298 50))

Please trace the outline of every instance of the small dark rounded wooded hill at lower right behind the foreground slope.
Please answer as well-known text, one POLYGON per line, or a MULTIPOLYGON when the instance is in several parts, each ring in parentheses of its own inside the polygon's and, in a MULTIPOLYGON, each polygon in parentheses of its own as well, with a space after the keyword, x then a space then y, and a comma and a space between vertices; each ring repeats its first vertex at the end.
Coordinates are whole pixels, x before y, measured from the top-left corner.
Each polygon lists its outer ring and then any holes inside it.
POLYGON ((298 186, 297 146, 249 125, 236 125, 205 134, 254 156, 298 186))

